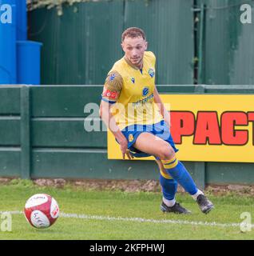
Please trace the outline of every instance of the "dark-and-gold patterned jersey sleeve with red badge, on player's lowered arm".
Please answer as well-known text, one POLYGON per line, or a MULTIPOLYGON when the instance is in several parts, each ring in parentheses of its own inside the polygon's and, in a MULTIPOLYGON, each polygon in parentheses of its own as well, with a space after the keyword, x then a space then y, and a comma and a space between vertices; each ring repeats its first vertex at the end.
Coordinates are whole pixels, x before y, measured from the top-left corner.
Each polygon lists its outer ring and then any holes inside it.
POLYGON ((105 79, 103 92, 101 94, 101 100, 109 102, 111 104, 117 102, 121 94, 121 88, 123 86, 123 78, 117 71, 109 72, 105 79))

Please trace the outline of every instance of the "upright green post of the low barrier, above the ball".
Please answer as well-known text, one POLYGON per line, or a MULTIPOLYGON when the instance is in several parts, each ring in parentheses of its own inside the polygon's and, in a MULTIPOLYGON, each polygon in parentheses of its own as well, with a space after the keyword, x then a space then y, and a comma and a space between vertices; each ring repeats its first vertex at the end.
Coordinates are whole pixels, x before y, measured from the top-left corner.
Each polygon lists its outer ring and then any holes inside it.
POLYGON ((30 178, 30 88, 21 87, 21 178, 30 178))

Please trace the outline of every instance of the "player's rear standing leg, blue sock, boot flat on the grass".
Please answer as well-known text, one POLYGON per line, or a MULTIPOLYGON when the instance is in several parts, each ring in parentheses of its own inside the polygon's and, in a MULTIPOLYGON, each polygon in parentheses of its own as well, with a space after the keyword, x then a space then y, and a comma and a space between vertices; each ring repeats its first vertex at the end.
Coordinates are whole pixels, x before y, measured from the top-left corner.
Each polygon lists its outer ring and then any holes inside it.
POLYGON ((160 184, 162 190, 161 211, 175 214, 189 214, 179 203, 176 202, 177 182, 164 169, 161 160, 156 160, 160 170, 160 184))

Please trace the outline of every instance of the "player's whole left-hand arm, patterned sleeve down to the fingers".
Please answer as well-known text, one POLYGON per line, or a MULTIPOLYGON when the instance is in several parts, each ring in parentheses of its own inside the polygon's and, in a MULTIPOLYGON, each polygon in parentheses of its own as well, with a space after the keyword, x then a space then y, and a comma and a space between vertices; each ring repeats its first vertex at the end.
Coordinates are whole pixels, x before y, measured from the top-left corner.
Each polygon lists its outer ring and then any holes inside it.
POLYGON ((102 121, 105 122, 105 125, 113 133, 113 136, 117 139, 117 142, 119 142, 123 158, 125 158, 126 154, 127 157, 131 159, 132 157, 128 151, 128 141, 121 133, 110 111, 111 107, 117 102, 117 98, 120 96, 122 83, 121 75, 117 72, 112 72, 108 75, 101 94, 100 116, 102 121))

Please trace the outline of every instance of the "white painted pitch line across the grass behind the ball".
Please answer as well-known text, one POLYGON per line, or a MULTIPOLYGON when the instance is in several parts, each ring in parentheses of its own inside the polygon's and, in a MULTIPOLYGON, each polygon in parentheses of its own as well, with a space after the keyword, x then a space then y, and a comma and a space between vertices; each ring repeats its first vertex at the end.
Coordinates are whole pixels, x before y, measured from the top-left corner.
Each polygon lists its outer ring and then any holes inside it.
MULTIPOLYGON (((0 211, 0 214, 23 214, 22 211, 0 211)), ((124 221, 124 222, 149 222, 149 223, 170 223, 180 225, 192 225, 192 226, 220 226, 220 227, 240 227, 240 223, 217 223, 217 222, 194 222, 184 220, 173 220, 173 219, 150 219, 150 218, 124 218, 124 217, 110 217, 110 216, 99 216, 99 215, 87 215, 87 214, 65 214, 61 213, 62 218, 81 218, 81 219, 93 219, 93 220, 106 220, 106 221, 124 221)), ((254 228, 254 225, 251 225, 254 228)))

